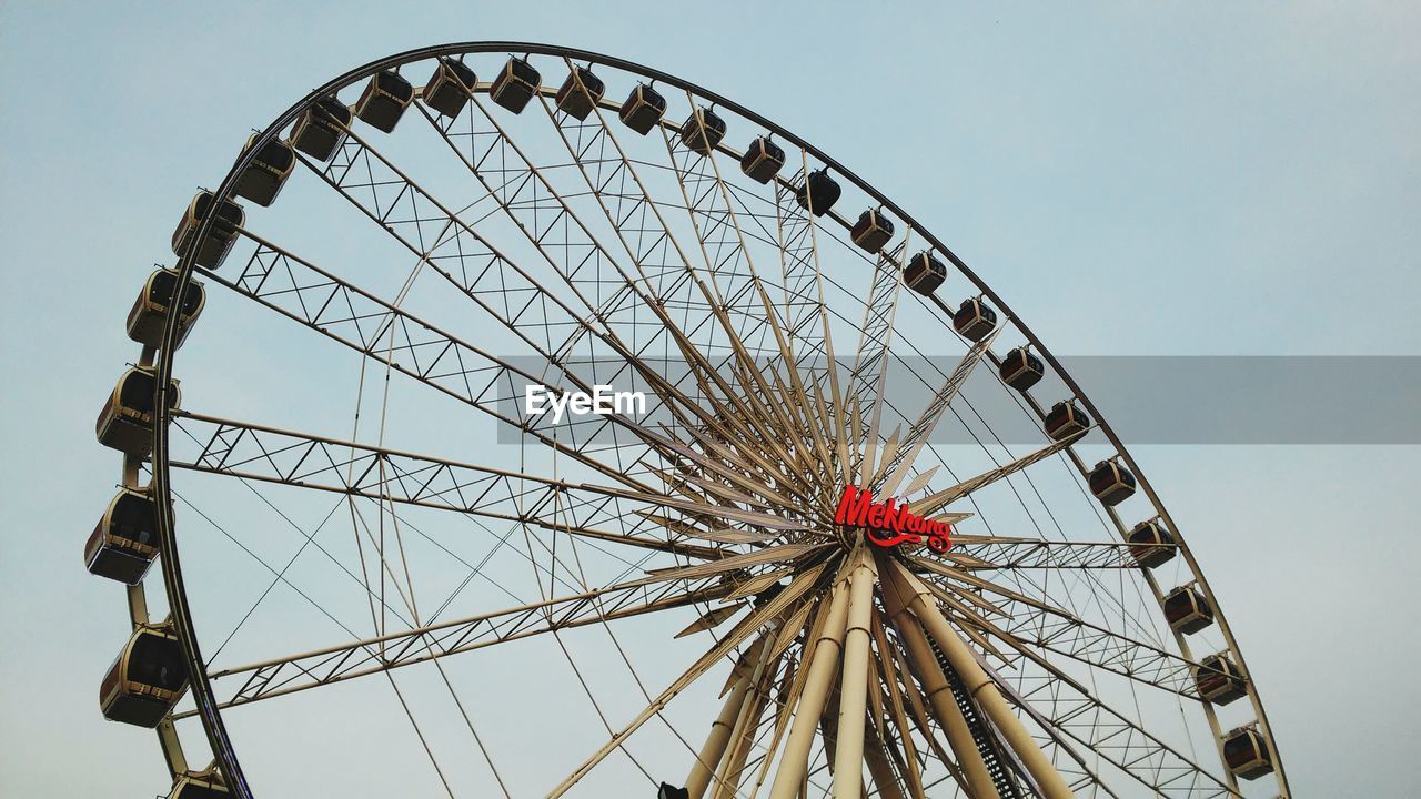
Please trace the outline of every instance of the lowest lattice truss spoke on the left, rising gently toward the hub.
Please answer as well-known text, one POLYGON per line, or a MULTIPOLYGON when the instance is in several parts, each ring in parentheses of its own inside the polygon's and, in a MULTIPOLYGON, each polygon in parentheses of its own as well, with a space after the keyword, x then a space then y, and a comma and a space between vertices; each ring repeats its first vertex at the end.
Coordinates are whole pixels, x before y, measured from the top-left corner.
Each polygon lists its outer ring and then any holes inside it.
POLYGON ((728 596, 733 583, 716 577, 657 584, 621 583, 507 610, 426 624, 335 647, 212 671, 240 678, 223 708, 379 674, 544 633, 603 624, 688 607, 728 596))

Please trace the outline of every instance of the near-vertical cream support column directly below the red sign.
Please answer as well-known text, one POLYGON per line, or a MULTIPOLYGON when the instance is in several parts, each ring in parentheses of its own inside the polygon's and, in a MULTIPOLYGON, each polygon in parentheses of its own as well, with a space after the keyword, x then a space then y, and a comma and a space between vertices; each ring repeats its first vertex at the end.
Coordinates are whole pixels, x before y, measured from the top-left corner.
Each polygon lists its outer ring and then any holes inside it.
POLYGON ((848 577, 848 624, 838 691, 838 741, 834 746, 834 799, 860 799, 864 785, 864 714, 868 694, 868 641, 878 573, 868 550, 858 547, 848 577))

